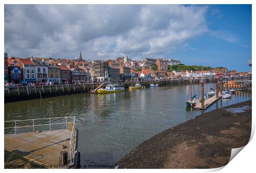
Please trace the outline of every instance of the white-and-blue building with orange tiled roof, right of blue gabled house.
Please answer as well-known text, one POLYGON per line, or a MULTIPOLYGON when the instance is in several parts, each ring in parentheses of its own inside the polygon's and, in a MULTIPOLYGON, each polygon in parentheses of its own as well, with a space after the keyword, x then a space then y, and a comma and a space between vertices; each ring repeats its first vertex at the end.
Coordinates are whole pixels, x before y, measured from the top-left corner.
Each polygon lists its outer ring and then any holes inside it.
POLYGON ((21 83, 36 81, 35 64, 31 61, 31 59, 19 59, 16 65, 19 66, 22 71, 21 83))

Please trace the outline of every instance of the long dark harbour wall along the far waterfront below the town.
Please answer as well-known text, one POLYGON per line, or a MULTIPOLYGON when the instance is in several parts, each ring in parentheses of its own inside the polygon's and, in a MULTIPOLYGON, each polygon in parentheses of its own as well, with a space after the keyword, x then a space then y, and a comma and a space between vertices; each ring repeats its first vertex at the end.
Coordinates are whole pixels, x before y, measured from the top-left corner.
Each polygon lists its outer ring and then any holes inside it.
MULTIPOLYGON (((212 81, 225 82, 219 79, 212 81)), ((209 83, 210 78, 204 79, 204 83, 209 83)), ((140 81, 140 82, 121 82, 125 88, 128 88, 135 83, 140 83, 142 86, 149 87, 151 83, 159 84, 159 86, 173 86, 173 85, 188 85, 190 79, 164 79, 161 81, 140 81)), ((192 79, 192 84, 199 84, 200 79, 192 79)), ((239 83, 239 82, 238 82, 239 83)), ((5 88, 4 100, 7 102, 16 102, 22 100, 42 99, 47 97, 57 97, 63 95, 73 95, 79 93, 87 93, 90 90, 94 90, 100 85, 100 83, 92 84, 69 84, 69 85, 41 85, 41 86, 19 86, 12 88, 5 88)), ((107 85, 107 84, 104 84, 107 85)), ((104 87, 104 85, 102 87, 104 87)), ((223 85, 224 86, 224 85, 223 85)), ((235 88, 236 90, 248 90, 251 91, 251 83, 242 83, 241 85, 227 85, 226 89, 235 88)))

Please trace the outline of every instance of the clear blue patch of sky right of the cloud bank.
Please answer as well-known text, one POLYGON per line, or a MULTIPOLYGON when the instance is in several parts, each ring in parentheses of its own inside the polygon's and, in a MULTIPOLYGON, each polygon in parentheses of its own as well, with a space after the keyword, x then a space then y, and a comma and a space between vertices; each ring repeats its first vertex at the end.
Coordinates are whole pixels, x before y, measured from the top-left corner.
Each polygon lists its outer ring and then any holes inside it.
POLYGON ((184 64, 225 66, 251 71, 251 5, 208 5, 206 21, 209 31, 179 47, 173 57, 184 64))

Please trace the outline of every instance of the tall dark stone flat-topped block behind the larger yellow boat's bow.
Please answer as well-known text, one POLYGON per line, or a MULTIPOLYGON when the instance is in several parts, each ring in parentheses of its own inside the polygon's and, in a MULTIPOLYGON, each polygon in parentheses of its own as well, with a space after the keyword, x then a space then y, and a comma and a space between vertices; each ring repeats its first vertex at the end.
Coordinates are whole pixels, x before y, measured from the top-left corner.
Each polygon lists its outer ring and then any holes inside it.
POLYGON ((109 74, 109 63, 108 62, 99 62, 94 64, 94 75, 93 78, 96 81, 107 81, 109 74))

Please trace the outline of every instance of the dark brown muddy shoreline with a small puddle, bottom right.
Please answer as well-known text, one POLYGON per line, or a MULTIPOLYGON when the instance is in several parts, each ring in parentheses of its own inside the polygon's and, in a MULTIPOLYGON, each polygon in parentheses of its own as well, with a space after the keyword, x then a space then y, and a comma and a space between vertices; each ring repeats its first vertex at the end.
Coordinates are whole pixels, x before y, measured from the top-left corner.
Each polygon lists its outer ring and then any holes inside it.
POLYGON ((232 148, 249 142, 251 115, 251 100, 201 114, 142 142, 116 165, 119 168, 224 166, 232 148))

